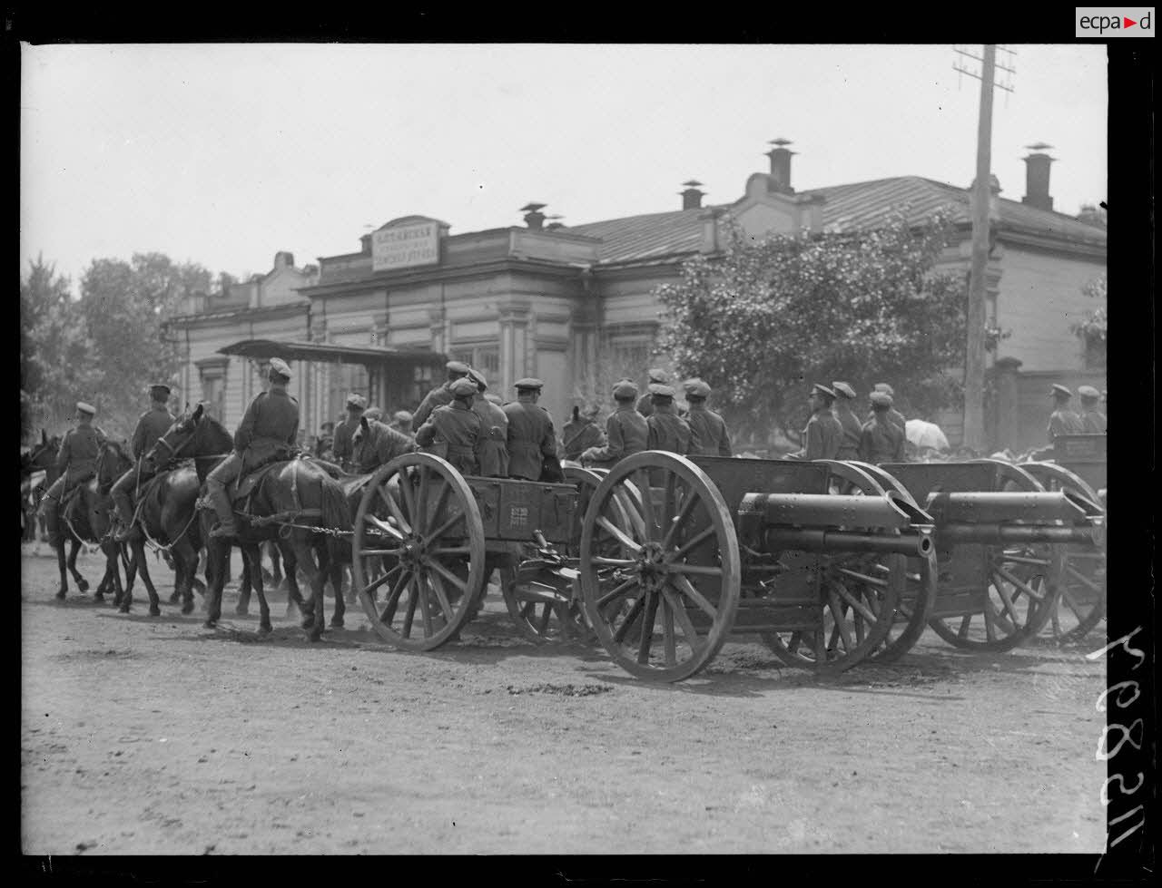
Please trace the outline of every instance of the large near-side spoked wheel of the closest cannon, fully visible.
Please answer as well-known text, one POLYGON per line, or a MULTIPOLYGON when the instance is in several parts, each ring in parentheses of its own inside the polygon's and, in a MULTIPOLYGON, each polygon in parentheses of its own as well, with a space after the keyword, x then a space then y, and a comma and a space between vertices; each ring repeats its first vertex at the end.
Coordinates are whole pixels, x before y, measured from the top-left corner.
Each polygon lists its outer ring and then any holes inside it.
POLYGON ((731 512, 689 460, 638 453, 594 491, 581 532, 586 613, 631 674, 679 681, 710 663, 734 623, 740 576, 731 512))

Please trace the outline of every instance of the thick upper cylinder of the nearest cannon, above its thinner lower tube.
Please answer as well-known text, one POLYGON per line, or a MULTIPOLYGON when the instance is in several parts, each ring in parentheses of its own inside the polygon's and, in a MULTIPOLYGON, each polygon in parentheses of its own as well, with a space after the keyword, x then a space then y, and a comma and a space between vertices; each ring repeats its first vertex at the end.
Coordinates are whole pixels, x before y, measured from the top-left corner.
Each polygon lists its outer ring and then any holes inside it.
POLYGON ((931 526, 931 515, 896 491, 882 497, 840 497, 826 493, 746 493, 740 520, 781 527, 883 527, 903 530, 931 526))

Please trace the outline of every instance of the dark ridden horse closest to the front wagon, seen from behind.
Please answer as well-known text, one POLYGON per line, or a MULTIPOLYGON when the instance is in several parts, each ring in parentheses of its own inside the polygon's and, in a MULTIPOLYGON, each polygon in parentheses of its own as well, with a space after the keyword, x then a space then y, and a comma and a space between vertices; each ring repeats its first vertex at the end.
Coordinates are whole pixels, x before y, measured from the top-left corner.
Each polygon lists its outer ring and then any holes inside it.
MULTIPOLYGON (((179 454, 193 456, 221 456, 232 448, 232 438, 222 424, 208 416, 203 405, 199 404, 188 418, 174 423, 153 446, 168 450, 171 456, 179 454)), ((206 461, 198 463, 198 477, 205 498, 205 478, 209 469, 206 461)), ((266 467, 264 467, 266 468, 266 467)), ((301 565, 310 582, 311 598, 302 609, 302 628, 308 629, 310 641, 322 637, 323 614, 323 579, 328 566, 327 544, 321 540, 314 527, 332 528, 350 532, 351 518, 347 514, 346 501, 339 486, 309 460, 284 460, 268 468, 264 477, 249 496, 252 511, 239 515, 237 544, 246 561, 251 583, 258 593, 259 631, 271 631, 270 607, 263 590, 261 561, 259 544, 264 541, 281 541, 279 548, 286 559, 290 554, 294 564, 286 564, 287 579, 294 589, 295 566, 301 565), (311 525, 311 527, 306 527, 311 525), (320 563, 316 563, 316 555, 320 563)), ((230 547, 235 544, 228 539, 209 535, 216 520, 210 508, 200 512, 200 530, 207 542, 207 618, 206 627, 214 628, 222 616, 222 587, 225 584, 225 562, 230 547)), ((345 612, 343 597, 335 600, 332 627, 343 625, 345 612)))

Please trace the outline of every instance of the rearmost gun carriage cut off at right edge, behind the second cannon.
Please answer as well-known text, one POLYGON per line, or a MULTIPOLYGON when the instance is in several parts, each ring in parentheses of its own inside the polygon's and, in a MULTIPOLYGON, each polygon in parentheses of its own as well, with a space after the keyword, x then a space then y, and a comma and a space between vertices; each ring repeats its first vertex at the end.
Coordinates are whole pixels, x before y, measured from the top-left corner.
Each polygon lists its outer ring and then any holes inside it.
MULTIPOLYGON (((1046 490, 1071 491, 1100 503, 1105 513, 1106 436, 1060 435, 1053 441, 1053 459, 1021 464, 1046 490)), ((1105 616, 1105 547, 1070 546, 1061 600, 1053 614, 1054 635, 1066 642, 1081 641, 1105 616)))

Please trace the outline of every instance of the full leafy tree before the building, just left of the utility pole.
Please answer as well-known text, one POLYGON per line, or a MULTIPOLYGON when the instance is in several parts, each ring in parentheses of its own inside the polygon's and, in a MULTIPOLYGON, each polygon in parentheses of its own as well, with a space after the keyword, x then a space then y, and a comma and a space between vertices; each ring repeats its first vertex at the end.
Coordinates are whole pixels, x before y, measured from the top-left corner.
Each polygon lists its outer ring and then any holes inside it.
POLYGON ((696 257, 657 295, 666 309, 659 351, 697 375, 739 436, 795 439, 816 382, 861 394, 890 382, 912 411, 962 395, 967 291, 935 273, 951 236, 938 212, 919 229, 903 212, 861 232, 772 236, 730 229, 718 258, 696 257), (788 434, 790 433, 790 434, 788 434))

